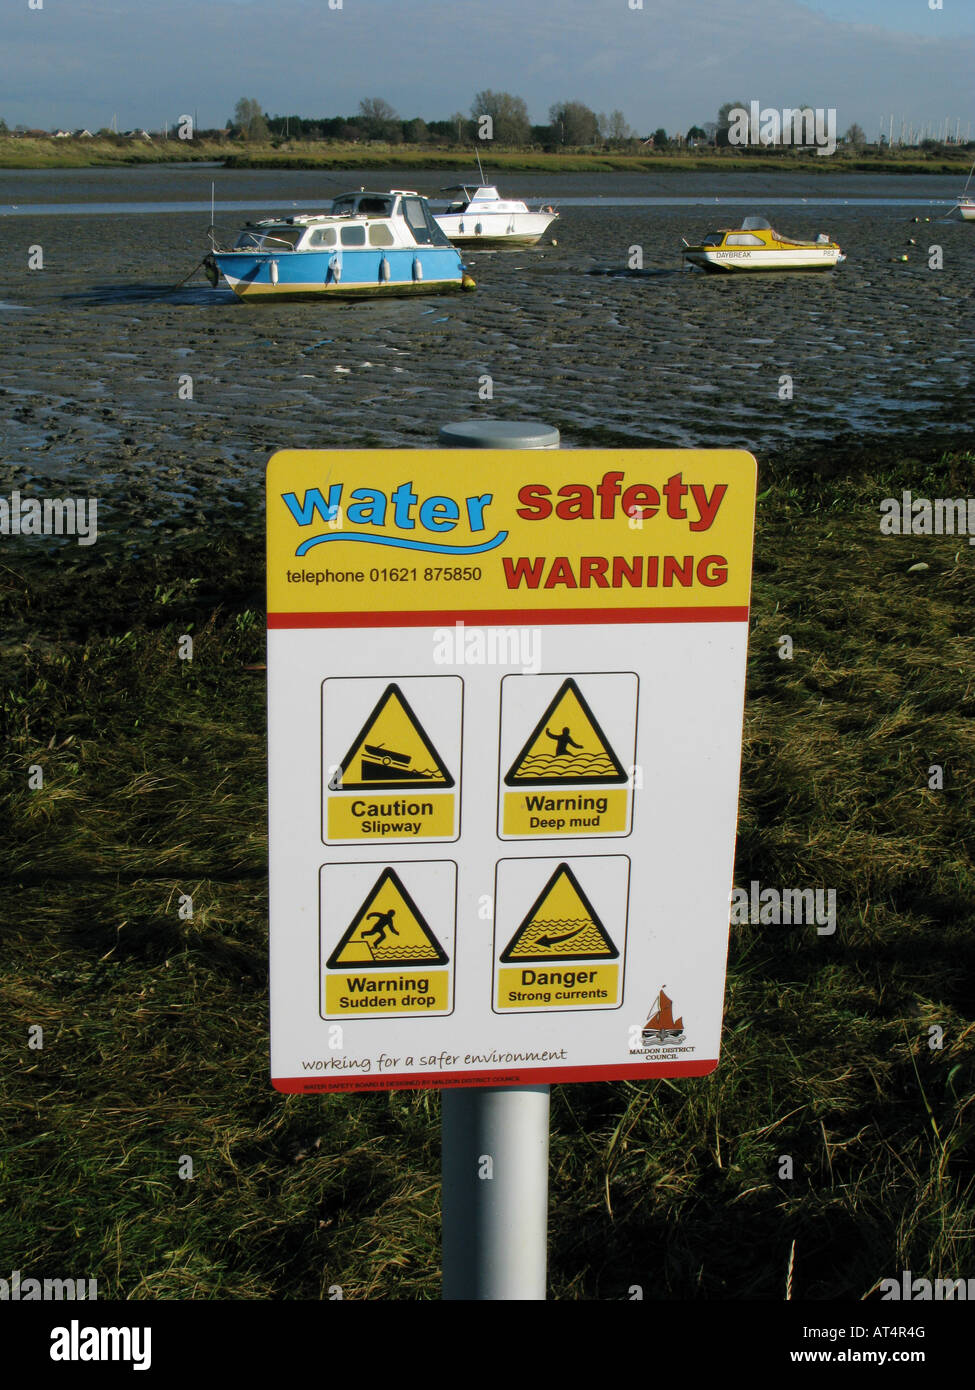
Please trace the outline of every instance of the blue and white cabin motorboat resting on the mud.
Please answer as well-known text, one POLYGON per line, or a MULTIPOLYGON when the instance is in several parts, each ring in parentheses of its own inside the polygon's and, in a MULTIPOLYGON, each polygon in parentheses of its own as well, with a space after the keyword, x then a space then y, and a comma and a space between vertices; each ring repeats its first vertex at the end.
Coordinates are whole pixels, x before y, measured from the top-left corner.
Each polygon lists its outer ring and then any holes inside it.
MULTIPOLYGON (((211 231, 213 238, 213 231, 211 231)), ((474 289, 460 253, 412 189, 344 193, 328 213, 246 222, 231 250, 203 259, 241 299, 360 299, 474 289)))

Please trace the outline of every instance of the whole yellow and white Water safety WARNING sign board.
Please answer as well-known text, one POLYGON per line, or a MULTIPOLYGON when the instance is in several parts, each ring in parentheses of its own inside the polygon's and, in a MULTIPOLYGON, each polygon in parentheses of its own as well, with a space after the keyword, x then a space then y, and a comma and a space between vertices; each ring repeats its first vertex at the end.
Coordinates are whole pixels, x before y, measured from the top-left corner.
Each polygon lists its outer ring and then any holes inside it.
POLYGON ((278 1090, 718 1065, 754 505, 739 452, 271 459, 278 1090))

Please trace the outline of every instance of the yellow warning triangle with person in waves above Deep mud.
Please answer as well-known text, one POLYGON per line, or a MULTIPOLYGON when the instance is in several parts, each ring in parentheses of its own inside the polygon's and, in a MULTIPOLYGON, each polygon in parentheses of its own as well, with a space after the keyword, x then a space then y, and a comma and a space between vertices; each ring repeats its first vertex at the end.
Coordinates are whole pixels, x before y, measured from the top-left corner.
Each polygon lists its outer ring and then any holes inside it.
POLYGON ((563 681, 508 770, 508 787, 625 783, 626 773, 579 685, 563 681))

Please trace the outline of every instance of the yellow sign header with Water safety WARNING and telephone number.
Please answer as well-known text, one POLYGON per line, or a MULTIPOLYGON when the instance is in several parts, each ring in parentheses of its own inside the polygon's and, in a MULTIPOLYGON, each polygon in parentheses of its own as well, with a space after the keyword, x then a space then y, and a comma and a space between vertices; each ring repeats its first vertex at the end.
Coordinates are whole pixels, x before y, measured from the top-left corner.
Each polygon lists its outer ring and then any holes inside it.
POLYGON ((268 624, 744 619, 755 474, 737 450, 284 450, 267 466, 268 624))

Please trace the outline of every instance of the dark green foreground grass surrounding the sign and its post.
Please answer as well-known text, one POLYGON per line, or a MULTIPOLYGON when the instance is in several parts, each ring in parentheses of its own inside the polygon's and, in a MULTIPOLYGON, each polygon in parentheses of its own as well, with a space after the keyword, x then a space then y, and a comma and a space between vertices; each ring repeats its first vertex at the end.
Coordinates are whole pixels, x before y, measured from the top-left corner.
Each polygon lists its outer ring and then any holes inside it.
MULTIPOLYGON (((972 1273, 975 550, 878 506, 974 461, 762 467, 736 881, 837 930, 732 929, 714 1076, 554 1090, 554 1297, 783 1298, 793 1241, 794 1298, 972 1273)), ((435 1298, 437 1093, 267 1081, 263 537, 129 541, 1 557, 0 1273, 435 1298)))

